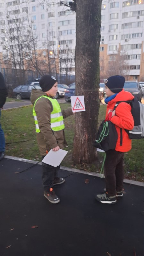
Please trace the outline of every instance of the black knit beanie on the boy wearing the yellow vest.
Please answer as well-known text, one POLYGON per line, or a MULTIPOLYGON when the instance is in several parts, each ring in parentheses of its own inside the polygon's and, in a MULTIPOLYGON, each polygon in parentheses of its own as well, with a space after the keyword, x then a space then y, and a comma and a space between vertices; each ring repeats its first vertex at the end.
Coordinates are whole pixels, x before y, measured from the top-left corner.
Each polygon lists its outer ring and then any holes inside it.
POLYGON ((39 80, 39 84, 43 92, 49 91, 56 82, 57 82, 56 78, 50 75, 44 75, 39 80))

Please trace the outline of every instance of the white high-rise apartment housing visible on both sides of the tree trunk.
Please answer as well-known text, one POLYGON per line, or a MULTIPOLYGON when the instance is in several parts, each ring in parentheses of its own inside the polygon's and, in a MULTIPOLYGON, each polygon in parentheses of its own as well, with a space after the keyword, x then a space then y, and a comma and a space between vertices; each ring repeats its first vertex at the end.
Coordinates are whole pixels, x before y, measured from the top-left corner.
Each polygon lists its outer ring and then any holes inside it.
MULTIPOLYGON (((67 0, 63 2, 69 3, 67 0)), ((74 12, 69 11, 59 0, 0 0, 0 31, 3 41, 0 54, 3 60, 9 55, 6 45, 10 38, 12 40, 12 35, 7 35, 7 31, 10 33, 18 24, 21 24, 23 36, 26 38, 24 45, 27 44, 28 31, 31 30, 35 49, 41 52, 40 61, 43 64, 45 57, 54 62, 54 56, 57 56, 59 72, 75 73, 74 12)), ((127 80, 144 80, 143 30, 144 0, 102 1, 100 78, 119 72, 127 80)), ((32 45, 25 47, 27 52, 32 45)), ((28 59, 27 56, 25 59, 28 59)), ((52 71, 54 70, 53 66, 52 71)))

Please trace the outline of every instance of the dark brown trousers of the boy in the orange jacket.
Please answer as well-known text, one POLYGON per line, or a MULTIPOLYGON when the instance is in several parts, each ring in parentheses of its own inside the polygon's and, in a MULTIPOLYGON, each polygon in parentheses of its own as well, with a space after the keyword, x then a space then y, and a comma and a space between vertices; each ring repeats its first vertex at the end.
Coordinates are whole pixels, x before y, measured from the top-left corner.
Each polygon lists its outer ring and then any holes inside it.
POLYGON ((123 189, 124 152, 108 150, 104 163, 104 174, 108 196, 116 195, 123 189))

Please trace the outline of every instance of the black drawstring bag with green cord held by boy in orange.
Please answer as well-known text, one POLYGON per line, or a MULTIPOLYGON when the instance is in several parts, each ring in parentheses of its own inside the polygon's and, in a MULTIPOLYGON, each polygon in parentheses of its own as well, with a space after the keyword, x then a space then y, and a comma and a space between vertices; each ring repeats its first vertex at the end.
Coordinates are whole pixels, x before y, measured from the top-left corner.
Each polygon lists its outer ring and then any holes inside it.
POLYGON ((111 121, 103 121, 93 146, 104 151, 115 149, 117 139, 118 134, 115 125, 111 121))

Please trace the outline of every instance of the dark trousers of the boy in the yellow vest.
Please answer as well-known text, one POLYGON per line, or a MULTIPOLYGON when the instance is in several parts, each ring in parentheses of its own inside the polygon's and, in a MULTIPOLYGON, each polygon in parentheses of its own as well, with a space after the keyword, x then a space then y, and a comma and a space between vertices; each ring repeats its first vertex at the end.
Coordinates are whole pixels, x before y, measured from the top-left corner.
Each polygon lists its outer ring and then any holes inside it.
MULTIPOLYGON (((43 159, 44 157, 42 157, 43 159)), ((42 162, 42 182, 44 191, 50 191, 50 188, 53 188, 54 178, 58 177, 58 170, 60 169, 60 165, 57 167, 53 167, 49 164, 45 164, 42 162)))

